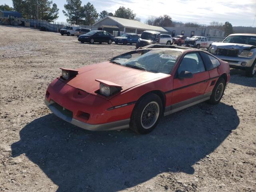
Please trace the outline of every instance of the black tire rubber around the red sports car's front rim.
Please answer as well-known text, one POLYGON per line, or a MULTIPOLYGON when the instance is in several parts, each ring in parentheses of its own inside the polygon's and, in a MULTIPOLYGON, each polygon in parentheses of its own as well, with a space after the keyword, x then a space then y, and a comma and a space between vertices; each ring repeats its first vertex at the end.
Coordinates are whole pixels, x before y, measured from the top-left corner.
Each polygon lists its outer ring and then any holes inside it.
POLYGON ((140 100, 138 100, 138 102, 134 107, 134 110, 132 111, 132 116, 130 120, 130 129, 139 134, 147 134, 151 132, 157 126, 160 120, 160 117, 162 116, 162 111, 163 111, 163 106, 162 106, 161 98, 158 95, 153 93, 146 94, 145 96, 140 98, 140 100), (141 125, 141 115, 146 105, 152 101, 157 102, 159 105, 159 109, 160 109, 159 116, 156 123, 151 128, 145 129, 141 125))

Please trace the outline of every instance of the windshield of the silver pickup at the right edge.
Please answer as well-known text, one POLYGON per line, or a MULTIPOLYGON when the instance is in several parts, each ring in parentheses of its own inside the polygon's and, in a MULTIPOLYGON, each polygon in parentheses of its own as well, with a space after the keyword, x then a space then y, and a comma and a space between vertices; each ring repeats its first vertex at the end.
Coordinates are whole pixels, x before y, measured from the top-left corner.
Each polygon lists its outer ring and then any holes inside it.
POLYGON ((256 46, 256 36, 230 35, 223 40, 225 43, 239 43, 256 46))

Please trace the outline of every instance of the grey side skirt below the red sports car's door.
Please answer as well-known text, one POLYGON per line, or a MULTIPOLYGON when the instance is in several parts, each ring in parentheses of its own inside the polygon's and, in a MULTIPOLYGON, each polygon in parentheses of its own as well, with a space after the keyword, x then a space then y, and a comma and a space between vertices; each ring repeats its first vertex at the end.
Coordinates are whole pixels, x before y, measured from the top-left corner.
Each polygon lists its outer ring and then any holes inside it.
POLYGON ((204 102, 206 100, 209 100, 211 94, 212 94, 212 92, 209 92, 209 93, 206 93, 206 94, 203 94, 203 95, 200 95, 200 96, 197 96, 197 97, 194 97, 194 98, 191 98, 191 99, 188 99, 188 100, 185 100, 185 101, 182 101, 182 102, 170 105, 170 106, 167 106, 164 110, 164 116, 175 113, 180 110, 183 110, 185 108, 188 108, 190 106, 196 105, 201 102, 204 102))

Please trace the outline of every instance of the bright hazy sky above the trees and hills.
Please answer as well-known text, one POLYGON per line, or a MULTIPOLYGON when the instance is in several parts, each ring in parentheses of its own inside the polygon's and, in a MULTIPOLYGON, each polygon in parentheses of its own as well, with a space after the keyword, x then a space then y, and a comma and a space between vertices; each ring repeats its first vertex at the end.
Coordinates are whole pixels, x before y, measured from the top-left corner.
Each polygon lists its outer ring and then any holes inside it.
MULTIPOLYGON (((56 3, 59 18, 56 22, 66 22, 62 13, 66 0, 52 0, 56 3)), ((87 0, 82 0, 82 5, 87 0)), ((167 14, 174 21, 209 24, 212 21, 230 22, 233 26, 253 26, 256 16, 256 0, 90 0, 97 12, 114 13, 120 6, 130 8, 145 22, 150 16, 167 14)), ((12 6, 12 0, 0 0, 0 4, 12 6)), ((256 20, 254 27, 256 26, 256 20)))

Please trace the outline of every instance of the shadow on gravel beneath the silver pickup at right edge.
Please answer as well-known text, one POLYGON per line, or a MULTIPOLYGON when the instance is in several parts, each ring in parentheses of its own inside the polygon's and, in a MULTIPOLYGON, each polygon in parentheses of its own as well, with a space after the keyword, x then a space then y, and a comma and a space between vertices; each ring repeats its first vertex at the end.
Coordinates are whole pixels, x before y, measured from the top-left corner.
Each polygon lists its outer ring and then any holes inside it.
POLYGON ((247 87, 256 87, 256 75, 247 77, 244 70, 230 69, 230 83, 243 85, 247 87))

